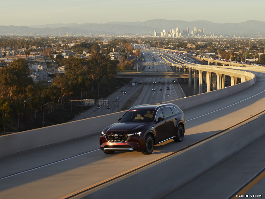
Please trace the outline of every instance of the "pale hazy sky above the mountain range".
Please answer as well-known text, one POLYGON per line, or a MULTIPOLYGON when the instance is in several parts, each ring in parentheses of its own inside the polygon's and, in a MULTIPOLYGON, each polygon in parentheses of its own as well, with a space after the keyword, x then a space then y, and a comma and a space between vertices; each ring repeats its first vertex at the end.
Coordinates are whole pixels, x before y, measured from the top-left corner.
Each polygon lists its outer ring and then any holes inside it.
POLYGON ((264 0, 1 0, 0 25, 135 22, 265 21, 264 0))

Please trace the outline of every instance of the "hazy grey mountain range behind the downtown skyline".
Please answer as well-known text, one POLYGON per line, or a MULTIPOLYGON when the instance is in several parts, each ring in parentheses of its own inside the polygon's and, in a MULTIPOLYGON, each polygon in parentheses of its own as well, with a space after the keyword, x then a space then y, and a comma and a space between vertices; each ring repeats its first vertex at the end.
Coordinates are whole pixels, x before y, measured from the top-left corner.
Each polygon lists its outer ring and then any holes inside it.
POLYGON ((162 32, 163 29, 170 31, 178 27, 180 33, 183 29, 189 28, 189 33, 196 29, 205 28, 206 35, 211 34, 230 36, 265 36, 265 22, 257 20, 248 20, 241 23, 213 23, 211 21, 181 21, 181 20, 165 20, 152 19, 144 22, 108 22, 104 24, 98 23, 69 23, 69 24, 46 24, 32 26, 3 26, 0 25, 0 35, 5 36, 96 36, 96 35, 154 35, 156 32, 162 32))

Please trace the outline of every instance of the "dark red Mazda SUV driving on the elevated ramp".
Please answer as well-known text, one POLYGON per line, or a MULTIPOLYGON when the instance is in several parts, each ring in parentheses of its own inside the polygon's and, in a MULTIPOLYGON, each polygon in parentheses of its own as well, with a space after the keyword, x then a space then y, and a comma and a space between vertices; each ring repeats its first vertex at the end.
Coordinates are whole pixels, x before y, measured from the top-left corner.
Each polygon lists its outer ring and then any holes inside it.
POLYGON ((178 106, 171 103, 138 105, 103 129, 99 145, 106 154, 115 151, 151 154, 154 145, 169 139, 181 142, 184 133, 184 113, 178 106))

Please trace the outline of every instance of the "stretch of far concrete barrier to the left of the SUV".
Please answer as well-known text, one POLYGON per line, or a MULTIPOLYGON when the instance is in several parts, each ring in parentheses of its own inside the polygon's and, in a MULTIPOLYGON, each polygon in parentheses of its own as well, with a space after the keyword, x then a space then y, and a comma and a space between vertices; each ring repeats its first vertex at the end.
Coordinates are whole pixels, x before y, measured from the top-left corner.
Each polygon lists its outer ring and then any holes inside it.
POLYGON ((125 112, 0 136, 0 157, 101 132, 125 112))

